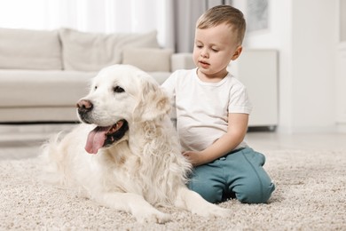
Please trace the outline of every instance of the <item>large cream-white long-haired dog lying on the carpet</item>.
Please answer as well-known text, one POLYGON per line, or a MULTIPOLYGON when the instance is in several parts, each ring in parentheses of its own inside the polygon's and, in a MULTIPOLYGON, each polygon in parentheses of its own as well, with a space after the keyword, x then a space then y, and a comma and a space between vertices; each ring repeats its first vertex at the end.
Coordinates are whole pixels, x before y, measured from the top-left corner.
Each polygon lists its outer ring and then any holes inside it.
POLYGON ((161 206, 228 217, 230 210, 185 186, 192 165, 181 154, 170 107, 144 71, 130 65, 101 69, 77 102, 82 123, 43 145, 45 179, 140 222, 171 220, 161 206))

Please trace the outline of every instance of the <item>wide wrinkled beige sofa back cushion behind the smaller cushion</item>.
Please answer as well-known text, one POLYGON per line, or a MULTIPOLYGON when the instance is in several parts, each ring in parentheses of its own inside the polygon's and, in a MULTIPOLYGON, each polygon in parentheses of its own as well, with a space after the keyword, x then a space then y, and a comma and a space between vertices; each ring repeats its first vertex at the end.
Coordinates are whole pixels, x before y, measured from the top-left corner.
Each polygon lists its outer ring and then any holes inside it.
POLYGON ((139 34, 86 33, 74 29, 59 30, 66 70, 98 71, 122 63, 122 50, 127 47, 158 48, 156 31, 139 34))

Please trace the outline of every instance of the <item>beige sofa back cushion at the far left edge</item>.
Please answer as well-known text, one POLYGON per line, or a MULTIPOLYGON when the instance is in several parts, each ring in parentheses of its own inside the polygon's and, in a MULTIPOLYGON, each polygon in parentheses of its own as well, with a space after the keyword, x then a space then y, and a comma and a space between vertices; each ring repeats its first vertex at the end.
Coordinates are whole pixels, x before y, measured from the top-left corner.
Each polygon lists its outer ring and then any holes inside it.
POLYGON ((0 28, 0 68, 62 69, 58 30, 0 28))

